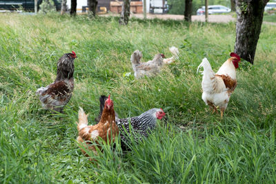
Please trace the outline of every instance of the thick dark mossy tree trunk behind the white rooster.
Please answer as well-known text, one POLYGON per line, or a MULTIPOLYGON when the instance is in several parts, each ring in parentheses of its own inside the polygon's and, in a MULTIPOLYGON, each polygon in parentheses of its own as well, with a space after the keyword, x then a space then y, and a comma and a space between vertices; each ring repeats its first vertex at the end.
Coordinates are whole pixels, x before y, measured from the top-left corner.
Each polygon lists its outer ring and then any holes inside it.
POLYGON ((235 0, 237 12, 235 53, 252 64, 267 2, 268 0, 235 0))

